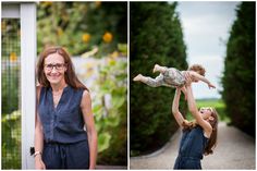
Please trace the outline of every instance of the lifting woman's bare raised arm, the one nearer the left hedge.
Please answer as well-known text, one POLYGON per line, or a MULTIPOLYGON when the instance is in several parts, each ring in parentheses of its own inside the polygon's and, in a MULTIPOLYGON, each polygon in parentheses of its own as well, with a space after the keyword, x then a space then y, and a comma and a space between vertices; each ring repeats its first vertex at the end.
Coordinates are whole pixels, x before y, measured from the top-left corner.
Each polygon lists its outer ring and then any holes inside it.
POLYGON ((172 113, 173 113, 178 124, 182 127, 182 123, 184 122, 184 118, 179 110, 180 96, 181 96, 181 89, 176 88, 175 96, 174 96, 173 103, 172 103, 172 113))

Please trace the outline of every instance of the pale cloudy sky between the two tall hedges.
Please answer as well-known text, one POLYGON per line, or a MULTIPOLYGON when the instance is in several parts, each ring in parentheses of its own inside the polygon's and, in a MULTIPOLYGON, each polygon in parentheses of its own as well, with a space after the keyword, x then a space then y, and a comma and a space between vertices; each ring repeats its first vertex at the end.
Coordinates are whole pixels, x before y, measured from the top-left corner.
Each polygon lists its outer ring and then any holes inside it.
POLYGON ((176 12, 182 23, 188 64, 206 68, 206 77, 216 85, 209 89, 204 83, 193 84, 194 96, 220 98, 221 77, 224 70, 225 42, 240 1, 180 1, 176 12))

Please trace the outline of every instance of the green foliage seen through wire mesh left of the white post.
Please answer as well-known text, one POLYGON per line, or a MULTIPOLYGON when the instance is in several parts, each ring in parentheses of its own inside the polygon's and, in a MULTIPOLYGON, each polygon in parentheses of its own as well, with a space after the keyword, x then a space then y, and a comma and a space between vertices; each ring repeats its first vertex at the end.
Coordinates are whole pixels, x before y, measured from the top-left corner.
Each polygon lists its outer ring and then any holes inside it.
POLYGON ((21 169, 20 20, 2 19, 1 133, 2 169, 21 169))

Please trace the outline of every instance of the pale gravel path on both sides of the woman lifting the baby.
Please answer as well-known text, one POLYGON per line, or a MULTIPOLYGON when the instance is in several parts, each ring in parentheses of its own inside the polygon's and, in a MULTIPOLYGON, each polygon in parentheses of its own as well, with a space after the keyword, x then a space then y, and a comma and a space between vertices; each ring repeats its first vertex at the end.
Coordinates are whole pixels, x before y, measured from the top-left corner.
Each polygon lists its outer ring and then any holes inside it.
MULTIPOLYGON (((213 155, 201 160, 203 169, 255 169, 255 141, 225 123, 219 123, 218 145, 213 155)), ((173 169, 181 132, 178 131, 160 150, 130 158, 131 169, 173 169)))

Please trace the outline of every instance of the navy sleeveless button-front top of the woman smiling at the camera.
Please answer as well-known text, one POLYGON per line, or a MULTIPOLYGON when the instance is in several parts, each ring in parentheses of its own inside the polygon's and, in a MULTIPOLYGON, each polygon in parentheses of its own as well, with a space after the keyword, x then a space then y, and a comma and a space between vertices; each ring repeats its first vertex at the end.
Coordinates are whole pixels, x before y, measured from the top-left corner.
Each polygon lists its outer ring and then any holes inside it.
POLYGON ((81 110, 83 91, 68 85, 54 108, 52 88, 41 87, 38 112, 45 142, 65 144, 87 139, 81 110))

